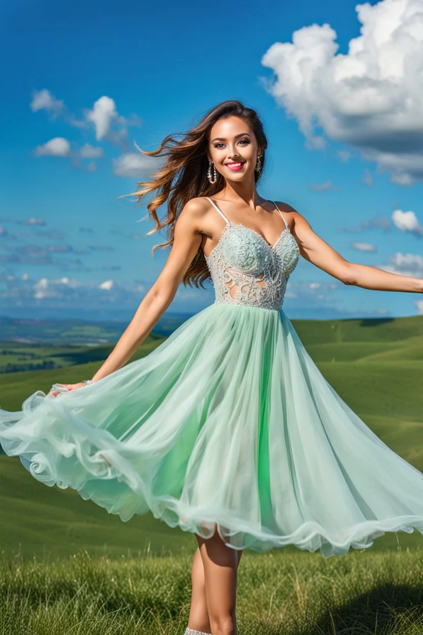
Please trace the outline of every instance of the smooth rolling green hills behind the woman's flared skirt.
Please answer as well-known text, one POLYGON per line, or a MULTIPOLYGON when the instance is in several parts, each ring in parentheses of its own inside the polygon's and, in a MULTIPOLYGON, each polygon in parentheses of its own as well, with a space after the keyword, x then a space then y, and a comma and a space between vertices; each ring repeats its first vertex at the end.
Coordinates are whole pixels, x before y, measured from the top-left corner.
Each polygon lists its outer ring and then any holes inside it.
MULTIPOLYGON (((423 472, 423 316, 292 322, 341 398, 387 445, 423 472)), ((133 359, 162 341, 148 338, 133 359)), ((1 375, 1 407, 18 410, 37 389, 48 391, 53 382, 91 377, 109 350, 108 345, 78 349, 72 358, 72 364, 78 365, 60 370, 1 375)), ((0 548, 6 552, 22 545, 26 557, 44 552, 64 556, 81 548, 119 557, 127 549, 143 551, 149 543, 154 553, 163 549, 176 553, 194 544, 191 534, 171 529, 151 514, 122 523, 75 491, 48 488, 32 478, 17 458, 0 456, 0 474, 0 548)), ((397 538, 403 549, 423 547, 419 533, 401 532, 379 538, 372 549, 396 549, 397 538)))

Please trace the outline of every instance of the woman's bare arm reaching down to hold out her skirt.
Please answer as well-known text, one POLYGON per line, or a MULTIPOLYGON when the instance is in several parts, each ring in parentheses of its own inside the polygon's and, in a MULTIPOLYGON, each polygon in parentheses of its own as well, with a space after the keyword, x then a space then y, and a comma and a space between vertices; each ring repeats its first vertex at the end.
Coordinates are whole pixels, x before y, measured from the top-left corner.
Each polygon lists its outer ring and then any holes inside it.
MULTIPOLYGON (((140 302, 113 351, 93 375, 93 383, 124 366, 172 304, 178 286, 201 244, 202 235, 198 225, 201 224, 200 219, 204 215, 204 210, 205 206, 201 199, 192 199, 184 206, 176 220, 172 248, 162 272, 140 302)), ((75 390, 85 384, 80 382, 58 385, 75 390)), ((50 394, 56 396, 58 391, 51 391, 50 394)))

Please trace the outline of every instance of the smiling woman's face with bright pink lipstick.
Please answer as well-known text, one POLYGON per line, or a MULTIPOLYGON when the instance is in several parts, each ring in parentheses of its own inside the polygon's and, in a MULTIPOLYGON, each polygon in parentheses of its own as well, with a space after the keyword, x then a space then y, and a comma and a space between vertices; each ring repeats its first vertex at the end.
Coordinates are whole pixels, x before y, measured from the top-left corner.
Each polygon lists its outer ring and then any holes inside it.
POLYGON ((261 154, 256 135, 240 117, 219 119, 209 135, 209 160, 224 178, 242 181, 254 175, 257 154, 261 154))

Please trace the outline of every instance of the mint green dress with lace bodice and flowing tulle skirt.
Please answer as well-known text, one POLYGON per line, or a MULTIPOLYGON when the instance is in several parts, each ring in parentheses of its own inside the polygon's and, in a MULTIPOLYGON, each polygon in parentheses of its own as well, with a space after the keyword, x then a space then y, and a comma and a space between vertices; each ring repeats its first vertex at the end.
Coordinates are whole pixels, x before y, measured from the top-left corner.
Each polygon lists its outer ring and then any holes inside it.
POLYGON ((0 410, 4 451, 122 521, 151 511, 233 549, 327 558, 423 533, 423 474, 342 401, 282 310, 299 258, 282 213, 270 245, 209 201, 226 222, 205 258, 214 303, 94 385, 0 410))

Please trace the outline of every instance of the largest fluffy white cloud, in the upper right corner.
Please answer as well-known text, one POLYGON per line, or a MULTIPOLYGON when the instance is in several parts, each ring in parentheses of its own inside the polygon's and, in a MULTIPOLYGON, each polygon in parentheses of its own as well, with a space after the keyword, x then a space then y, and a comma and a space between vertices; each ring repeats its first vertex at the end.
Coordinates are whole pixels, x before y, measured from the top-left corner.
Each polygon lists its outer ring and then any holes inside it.
POLYGON ((355 148, 393 182, 423 180, 423 0, 358 4, 360 36, 337 53, 329 24, 296 30, 261 62, 263 85, 295 117, 308 147, 355 148), (326 138, 325 138, 326 137, 326 138))

